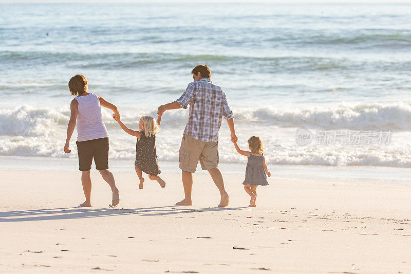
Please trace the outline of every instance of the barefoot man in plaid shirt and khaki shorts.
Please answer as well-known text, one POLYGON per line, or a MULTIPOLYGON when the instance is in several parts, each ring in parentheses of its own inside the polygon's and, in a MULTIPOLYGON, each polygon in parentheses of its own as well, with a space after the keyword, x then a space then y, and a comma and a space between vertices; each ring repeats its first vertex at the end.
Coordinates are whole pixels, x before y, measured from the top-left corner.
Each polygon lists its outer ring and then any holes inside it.
POLYGON ((193 172, 200 161, 201 169, 209 171, 220 191, 221 200, 218 206, 226 207, 228 194, 218 169, 218 131, 224 116, 230 128, 231 140, 237 141, 234 115, 228 106, 226 94, 221 87, 211 82, 211 71, 208 66, 198 65, 191 73, 194 82, 189 84, 183 95, 176 101, 158 108, 158 114, 162 115, 169 109, 187 108, 190 104, 189 121, 185 126, 179 155, 185 197, 176 205, 192 205, 193 172))

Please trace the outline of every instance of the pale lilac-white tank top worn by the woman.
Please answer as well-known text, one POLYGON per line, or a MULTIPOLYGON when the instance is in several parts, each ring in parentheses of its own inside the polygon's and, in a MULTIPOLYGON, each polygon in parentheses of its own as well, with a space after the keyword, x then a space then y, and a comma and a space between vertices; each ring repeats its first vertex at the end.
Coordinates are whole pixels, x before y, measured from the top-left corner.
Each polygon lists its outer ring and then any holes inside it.
POLYGON ((106 126, 101 116, 101 105, 97 95, 91 93, 77 96, 77 141, 88 141, 108 137, 106 126))

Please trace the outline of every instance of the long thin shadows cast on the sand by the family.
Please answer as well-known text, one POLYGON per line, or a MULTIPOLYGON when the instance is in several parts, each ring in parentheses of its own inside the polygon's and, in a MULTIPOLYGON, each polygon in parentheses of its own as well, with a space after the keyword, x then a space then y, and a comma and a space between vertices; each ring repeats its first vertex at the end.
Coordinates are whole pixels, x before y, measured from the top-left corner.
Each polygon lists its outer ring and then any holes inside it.
POLYGON ((233 207, 233 208, 212 207, 212 208, 190 208, 190 209, 187 209, 187 207, 183 207, 183 206, 146 207, 146 208, 133 208, 133 209, 83 208, 83 207, 47 208, 47 209, 0 212, 0 223, 95 218, 95 217, 118 216, 118 215, 127 215, 127 214, 140 214, 141 216, 159 216, 159 215, 173 215, 173 214, 208 212, 208 211, 227 211, 227 210, 237 210, 237 209, 243 209, 243 208, 247 208, 247 207, 233 207))

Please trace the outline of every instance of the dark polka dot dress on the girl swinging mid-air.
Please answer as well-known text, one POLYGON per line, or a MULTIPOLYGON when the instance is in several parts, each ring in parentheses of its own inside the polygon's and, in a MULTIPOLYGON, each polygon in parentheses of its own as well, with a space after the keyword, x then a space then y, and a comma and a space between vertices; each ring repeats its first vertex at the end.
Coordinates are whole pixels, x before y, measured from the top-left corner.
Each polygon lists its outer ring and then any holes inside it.
POLYGON ((136 143, 136 161, 134 165, 142 172, 150 175, 160 174, 156 154, 156 135, 145 136, 141 131, 140 140, 136 143))

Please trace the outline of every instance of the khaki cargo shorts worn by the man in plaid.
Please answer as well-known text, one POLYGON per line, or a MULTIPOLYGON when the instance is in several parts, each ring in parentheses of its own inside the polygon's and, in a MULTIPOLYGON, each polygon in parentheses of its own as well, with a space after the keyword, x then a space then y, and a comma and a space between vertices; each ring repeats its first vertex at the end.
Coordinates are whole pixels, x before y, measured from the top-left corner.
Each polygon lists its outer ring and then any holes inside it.
POLYGON ((202 142, 193 137, 183 134, 180 146, 180 169, 195 172, 198 160, 202 170, 210 170, 218 167, 218 141, 209 143, 202 142))

